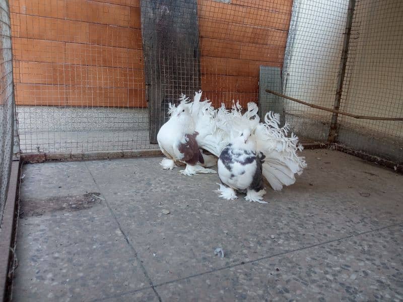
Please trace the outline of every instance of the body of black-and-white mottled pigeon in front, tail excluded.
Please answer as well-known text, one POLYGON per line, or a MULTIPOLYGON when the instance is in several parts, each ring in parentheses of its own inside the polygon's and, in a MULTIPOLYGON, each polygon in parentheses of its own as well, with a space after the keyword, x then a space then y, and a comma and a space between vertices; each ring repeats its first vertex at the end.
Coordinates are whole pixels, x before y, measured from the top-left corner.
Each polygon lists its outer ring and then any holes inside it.
POLYGON ((250 130, 243 130, 221 152, 218 159, 218 176, 223 184, 217 192, 224 199, 237 198, 236 191, 246 192, 249 202, 263 201, 266 193, 262 180, 264 155, 257 153, 256 142, 250 130))

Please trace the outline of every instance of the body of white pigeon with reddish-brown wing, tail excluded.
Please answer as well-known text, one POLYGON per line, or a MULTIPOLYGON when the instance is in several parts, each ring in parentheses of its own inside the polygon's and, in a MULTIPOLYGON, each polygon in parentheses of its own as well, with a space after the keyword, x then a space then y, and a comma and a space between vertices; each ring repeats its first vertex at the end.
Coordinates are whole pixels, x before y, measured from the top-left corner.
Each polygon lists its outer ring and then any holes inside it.
POLYGON ((169 104, 171 117, 157 134, 161 151, 167 157, 160 165, 163 169, 172 170, 175 162, 185 163, 186 169, 180 173, 188 176, 197 173, 216 173, 214 170, 204 168, 215 166, 216 160, 213 156, 201 153, 199 149, 196 140, 198 132, 195 131, 191 105, 184 97, 178 106, 169 104))

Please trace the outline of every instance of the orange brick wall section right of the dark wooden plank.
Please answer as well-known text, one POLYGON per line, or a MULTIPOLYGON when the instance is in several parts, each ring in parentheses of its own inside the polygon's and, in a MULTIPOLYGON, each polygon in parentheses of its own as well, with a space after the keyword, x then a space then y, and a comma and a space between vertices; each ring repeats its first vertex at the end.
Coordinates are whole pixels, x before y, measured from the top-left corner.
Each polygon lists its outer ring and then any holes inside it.
POLYGON ((291 8, 292 0, 198 0, 201 88, 208 98, 257 102, 259 65, 283 65, 291 8))

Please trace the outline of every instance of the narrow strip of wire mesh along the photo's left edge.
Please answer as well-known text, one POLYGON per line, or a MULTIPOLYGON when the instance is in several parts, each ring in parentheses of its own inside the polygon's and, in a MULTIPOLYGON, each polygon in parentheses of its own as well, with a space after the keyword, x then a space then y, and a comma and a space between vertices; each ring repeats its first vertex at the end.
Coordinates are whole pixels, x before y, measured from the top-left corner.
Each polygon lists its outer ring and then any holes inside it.
POLYGON ((14 100, 11 27, 8 3, 0 1, 0 228, 10 180, 14 100))

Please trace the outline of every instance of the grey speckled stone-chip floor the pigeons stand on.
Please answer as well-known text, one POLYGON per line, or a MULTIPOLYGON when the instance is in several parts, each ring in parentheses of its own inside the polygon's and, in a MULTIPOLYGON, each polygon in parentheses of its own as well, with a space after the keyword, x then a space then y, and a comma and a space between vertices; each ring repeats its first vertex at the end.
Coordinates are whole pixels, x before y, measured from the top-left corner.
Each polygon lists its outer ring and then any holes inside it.
POLYGON ((403 176, 304 154, 268 204, 219 199, 217 175, 160 158, 25 165, 13 299, 402 300, 403 176))

